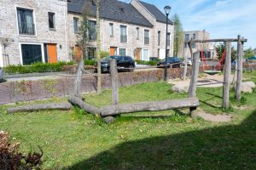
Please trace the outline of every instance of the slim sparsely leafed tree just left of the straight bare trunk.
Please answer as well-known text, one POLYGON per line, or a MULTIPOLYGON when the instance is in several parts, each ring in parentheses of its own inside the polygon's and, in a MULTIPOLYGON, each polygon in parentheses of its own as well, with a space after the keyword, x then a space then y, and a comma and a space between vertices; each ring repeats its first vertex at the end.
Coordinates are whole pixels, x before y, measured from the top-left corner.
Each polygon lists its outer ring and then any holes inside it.
POLYGON ((90 44, 89 39, 89 31, 90 31, 90 25, 88 23, 88 16, 90 15, 90 3, 87 2, 84 4, 83 10, 82 10, 82 20, 81 25, 79 26, 79 34, 77 36, 78 41, 76 42, 79 46, 79 48, 82 50, 83 58, 87 59, 87 48, 90 44))

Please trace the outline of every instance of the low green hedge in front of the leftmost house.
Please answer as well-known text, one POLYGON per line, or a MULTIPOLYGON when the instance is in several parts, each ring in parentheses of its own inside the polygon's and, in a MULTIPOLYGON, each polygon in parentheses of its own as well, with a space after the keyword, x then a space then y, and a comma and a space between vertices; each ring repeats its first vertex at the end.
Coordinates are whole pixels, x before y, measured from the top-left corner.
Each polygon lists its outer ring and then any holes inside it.
POLYGON ((64 71, 65 65, 73 65, 73 61, 60 61, 54 64, 50 63, 33 63, 32 65, 8 65, 3 68, 3 71, 8 74, 26 74, 33 72, 55 72, 64 71))

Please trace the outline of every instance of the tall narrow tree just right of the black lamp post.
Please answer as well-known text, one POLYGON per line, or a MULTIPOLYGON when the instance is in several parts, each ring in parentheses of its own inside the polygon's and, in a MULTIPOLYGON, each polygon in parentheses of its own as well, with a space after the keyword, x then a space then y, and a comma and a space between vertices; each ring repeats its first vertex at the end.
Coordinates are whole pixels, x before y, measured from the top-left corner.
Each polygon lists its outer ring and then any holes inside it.
POLYGON ((179 16, 177 14, 174 14, 172 16, 172 21, 174 22, 174 46, 173 49, 175 51, 175 54, 177 56, 183 55, 183 25, 179 19, 179 16))

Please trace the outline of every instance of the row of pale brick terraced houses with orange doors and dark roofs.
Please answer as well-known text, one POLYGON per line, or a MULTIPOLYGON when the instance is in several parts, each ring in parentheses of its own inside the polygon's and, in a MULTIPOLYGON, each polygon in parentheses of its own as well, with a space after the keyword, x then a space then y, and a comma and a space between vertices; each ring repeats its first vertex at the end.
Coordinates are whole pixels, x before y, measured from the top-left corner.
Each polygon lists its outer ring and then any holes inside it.
MULTIPOLYGON (((173 54, 173 23, 154 4, 103 1, 101 49, 110 54, 149 60, 173 54)), ((81 55, 76 44, 86 0, 1 0, 0 66, 67 61, 81 55)), ((88 56, 96 56, 96 11, 90 13, 88 56)))

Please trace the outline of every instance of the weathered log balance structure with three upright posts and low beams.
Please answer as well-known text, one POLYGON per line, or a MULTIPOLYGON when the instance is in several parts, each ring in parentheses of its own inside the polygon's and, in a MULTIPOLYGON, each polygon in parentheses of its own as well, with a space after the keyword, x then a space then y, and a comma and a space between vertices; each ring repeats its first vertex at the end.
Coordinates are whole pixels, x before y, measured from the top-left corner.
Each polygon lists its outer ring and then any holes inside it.
POLYGON ((119 105, 119 78, 116 60, 110 60, 110 77, 112 82, 112 105, 103 106, 102 108, 96 108, 94 105, 90 105, 83 101, 81 97, 81 76, 83 72, 84 61, 81 61, 77 71, 77 77, 75 80, 74 94, 69 96, 68 101, 73 105, 78 105, 80 108, 84 109, 93 115, 102 116, 105 122, 113 122, 113 116, 141 112, 141 111, 165 111, 172 109, 189 108, 191 116, 194 116, 194 111, 196 107, 199 106, 199 100, 196 98, 196 81, 198 76, 198 66, 195 65, 193 69, 194 78, 191 79, 189 88, 189 98, 185 99, 170 99, 162 101, 150 101, 141 102, 133 104, 123 104, 119 105), (196 69, 197 68, 197 69, 196 69))

